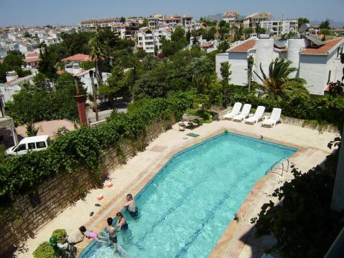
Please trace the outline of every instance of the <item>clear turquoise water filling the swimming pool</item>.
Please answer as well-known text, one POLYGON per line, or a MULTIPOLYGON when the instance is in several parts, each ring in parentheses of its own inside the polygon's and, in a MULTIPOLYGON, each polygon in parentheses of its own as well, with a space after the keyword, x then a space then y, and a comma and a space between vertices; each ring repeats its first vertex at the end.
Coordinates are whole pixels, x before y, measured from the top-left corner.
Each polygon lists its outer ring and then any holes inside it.
MULTIPOLYGON (((133 258, 207 257, 255 182, 296 151, 223 133, 174 155, 136 196, 140 216, 125 212, 118 244, 133 258)), ((93 241, 80 257, 116 256, 93 241)))

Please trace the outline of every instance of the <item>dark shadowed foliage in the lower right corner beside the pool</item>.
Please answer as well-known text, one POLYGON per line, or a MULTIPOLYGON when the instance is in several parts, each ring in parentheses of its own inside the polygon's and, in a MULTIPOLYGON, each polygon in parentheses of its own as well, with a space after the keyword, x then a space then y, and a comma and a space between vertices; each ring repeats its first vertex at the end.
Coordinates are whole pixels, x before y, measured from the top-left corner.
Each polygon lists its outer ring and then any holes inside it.
POLYGON ((344 226, 344 212, 331 210, 336 175, 336 155, 327 156, 325 168, 316 166, 307 173, 292 170, 294 179, 285 182, 272 196, 280 205, 264 204, 257 218, 256 237, 273 235, 277 244, 268 252, 281 257, 324 257, 344 226))

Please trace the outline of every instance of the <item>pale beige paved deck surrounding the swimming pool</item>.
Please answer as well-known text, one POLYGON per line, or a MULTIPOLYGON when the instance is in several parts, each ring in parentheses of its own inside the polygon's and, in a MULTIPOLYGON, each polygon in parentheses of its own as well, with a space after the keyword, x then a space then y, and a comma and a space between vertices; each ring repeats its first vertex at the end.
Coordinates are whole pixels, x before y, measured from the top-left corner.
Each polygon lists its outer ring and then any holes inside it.
MULTIPOLYGON (((214 121, 185 131, 179 131, 178 124, 173 125, 172 129, 153 140, 145 151, 128 160, 127 164, 111 171, 107 182, 113 182, 114 186, 89 191, 84 200, 78 200, 74 205, 66 208, 36 232, 33 239, 26 240, 22 245, 23 248, 17 251, 17 257, 32 257, 34 249, 41 242, 47 241, 56 228, 65 228, 69 235, 76 234, 81 225, 100 232, 106 225, 107 217, 114 217, 116 212, 122 209, 125 195, 127 193, 136 195, 175 153, 216 136, 225 129, 254 138, 262 136, 263 140, 296 147, 299 151, 290 158, 290 161, 303 172, 325 160, 326 155, 331 153, 327 143, 337 136, 335 133, 319 134, 319 131, 293 125, 279 124, 275 128, 266 128, 261 127, 260 123, 246 125, 228 120, 214 121), (197 138, 186 136, 190 132, 200 136, 197 138), (97 201, 96 197, 100 194, 105 198, 97 201), (96 203, 100 203, 101 206, 94 206, 96 203), (91 211, 94 211, 92 217, 89 216, 91 211)), ((259 240, 252 237, 254 228, 250 224, 250 219, 259 213, 262 204, 272 200, 268 195, 274 189, 281 186, 284 181, 292 179, 290 173, 284 173, 281 177, 277 174, 281 171, 275 172, 268 173, 255 184, 252 192, 239 208, 239 222, 230 222, 210 257, 261 257, 264 248, 271 246, 274 241, 272 237, 259 240)), ((83 250, 89 242, 87 239, 76 244, 78 251, 83 250)))

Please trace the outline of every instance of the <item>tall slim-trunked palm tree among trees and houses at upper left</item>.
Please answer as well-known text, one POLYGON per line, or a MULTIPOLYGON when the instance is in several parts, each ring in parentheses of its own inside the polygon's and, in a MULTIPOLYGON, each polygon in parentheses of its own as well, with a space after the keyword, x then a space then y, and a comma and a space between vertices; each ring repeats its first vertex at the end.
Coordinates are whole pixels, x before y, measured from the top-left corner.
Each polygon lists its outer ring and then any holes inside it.
POLYGON ((107 56, 105 46, 96 37, 89 41, 89 56, 96 65, 96 78, 98 85, 103 85, 102 63, 107 56))

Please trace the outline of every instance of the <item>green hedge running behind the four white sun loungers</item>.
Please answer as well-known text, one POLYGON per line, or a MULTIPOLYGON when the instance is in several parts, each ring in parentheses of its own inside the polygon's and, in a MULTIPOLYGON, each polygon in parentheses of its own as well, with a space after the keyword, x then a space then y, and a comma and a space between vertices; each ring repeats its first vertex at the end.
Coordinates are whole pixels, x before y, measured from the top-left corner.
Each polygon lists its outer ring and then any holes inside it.
POLYGON ((251 94, 228 94, 230 105, 237 101, 250 103, 252 107, 264 106, 266 111, 272 111, 274 107, 279 107, 282 109, 283 116, 316 120, 319 123, 327 122, 338 126, 338 129, 341 129, 344 121, 344 100, 341 97, 306 98, 296 94, 291 96, 289 100, 272 100, 257 98, 251 94))

